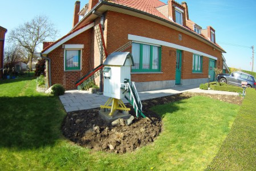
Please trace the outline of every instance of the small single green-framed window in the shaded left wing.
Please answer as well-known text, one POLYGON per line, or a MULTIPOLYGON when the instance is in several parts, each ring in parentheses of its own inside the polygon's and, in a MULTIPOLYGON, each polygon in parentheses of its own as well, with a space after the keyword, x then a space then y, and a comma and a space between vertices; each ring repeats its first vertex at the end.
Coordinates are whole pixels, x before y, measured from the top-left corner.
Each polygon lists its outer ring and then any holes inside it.
POLYGON ((81 70, 81 50, 65 50, 65 71, 81 70))

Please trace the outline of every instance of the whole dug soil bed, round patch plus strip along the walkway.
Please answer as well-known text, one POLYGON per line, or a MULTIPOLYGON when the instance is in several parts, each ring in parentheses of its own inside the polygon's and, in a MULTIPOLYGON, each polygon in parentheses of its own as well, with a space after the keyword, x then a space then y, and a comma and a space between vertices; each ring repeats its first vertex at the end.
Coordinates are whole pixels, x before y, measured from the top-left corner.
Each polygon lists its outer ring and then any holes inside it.
MULTIPOLYGON (((186 92, 142 101, 143 113, 151 117, 153 122, 148 118, 135 117, 129 126, 113 127, 111 123, 107 124, 100 118, 99 108, 95 108, 68 112, 63 120, 62 132, 67 139, 92 150, 113 153, 132 152, 141 146, 153 143, 162 131, 161 118, 149 108, 198 95, 238 105, 242 103, 242 97, 239 96, 186 92)), ((130 114, 135 116, 131 105, 127 107, 131 108, 130 114)))

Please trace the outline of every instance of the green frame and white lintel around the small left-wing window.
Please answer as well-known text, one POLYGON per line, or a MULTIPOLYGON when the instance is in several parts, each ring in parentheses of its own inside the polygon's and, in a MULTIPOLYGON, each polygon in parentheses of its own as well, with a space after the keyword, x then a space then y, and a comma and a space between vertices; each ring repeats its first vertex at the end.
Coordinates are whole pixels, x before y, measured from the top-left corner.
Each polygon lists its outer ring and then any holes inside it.
POLYGON ((64 71, 82 71, 82 52, 84 45, 83 44, 63 44, 64 48, 64 71), (66 51, 79 51, 80 50, 80 66, 78 70, 66 70, 66 51))

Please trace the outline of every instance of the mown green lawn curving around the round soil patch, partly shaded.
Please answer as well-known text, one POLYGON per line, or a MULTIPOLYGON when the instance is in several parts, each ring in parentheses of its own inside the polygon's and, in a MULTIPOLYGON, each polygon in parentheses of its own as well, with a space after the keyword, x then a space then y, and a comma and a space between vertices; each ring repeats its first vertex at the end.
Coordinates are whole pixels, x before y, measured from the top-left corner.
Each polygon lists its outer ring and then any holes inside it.
POLYGON ((0 170, 204 170, 240 108, 204 96, 156 106, 163 128, 155 143, 127 154, 92 152, 62 136, 60 100, 35 84, 0 81, 0 170))

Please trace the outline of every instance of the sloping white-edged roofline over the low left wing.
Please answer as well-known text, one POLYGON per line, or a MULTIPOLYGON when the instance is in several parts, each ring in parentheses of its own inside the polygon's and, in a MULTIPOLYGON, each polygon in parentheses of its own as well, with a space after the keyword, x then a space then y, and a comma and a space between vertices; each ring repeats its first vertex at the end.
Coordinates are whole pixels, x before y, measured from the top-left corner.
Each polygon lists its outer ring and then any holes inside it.
POLYGON ((88 23, 87 25, 84 25, 82 28, 79 28, 76 31, 74 30, 74 32, 70 32, 69 34, 63 36, 56 42, 54 42, 54 43, 50 44, 49 46, 47 46, 46 48, 44 48, 44 50, 42 51, 42 55, 47 56, 47 54, 49 54, 51 51, 55 50, 55 48, 59 47, 63 43, 67 42, 68 40, 74 38, 75 36, 81 34, 82 32, 94 27, 94 25, 95 25, 95 23, 88 23))

